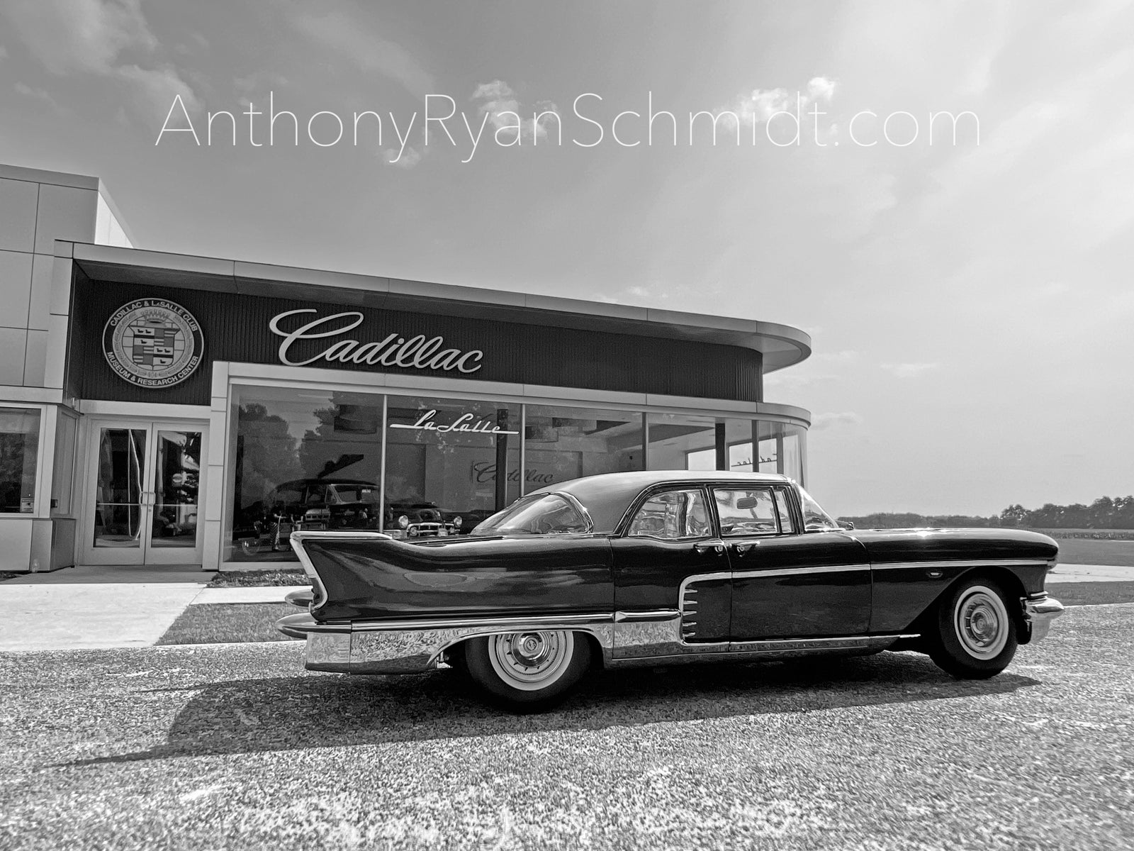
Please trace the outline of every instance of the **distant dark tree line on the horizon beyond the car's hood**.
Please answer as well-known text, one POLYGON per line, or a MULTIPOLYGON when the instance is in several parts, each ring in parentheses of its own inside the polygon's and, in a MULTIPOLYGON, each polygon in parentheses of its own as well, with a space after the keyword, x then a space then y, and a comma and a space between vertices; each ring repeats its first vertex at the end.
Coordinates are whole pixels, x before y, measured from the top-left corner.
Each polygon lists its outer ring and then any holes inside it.
POLYGON ((1018 529, 1134 529, 1134 496, 1099 497, 1090 505, 1055 505, 1025 508, 1009 505, 989 517, 968 514, 866 514, 849 520, 858 529, 911 526, 1010 526, 1018 529))

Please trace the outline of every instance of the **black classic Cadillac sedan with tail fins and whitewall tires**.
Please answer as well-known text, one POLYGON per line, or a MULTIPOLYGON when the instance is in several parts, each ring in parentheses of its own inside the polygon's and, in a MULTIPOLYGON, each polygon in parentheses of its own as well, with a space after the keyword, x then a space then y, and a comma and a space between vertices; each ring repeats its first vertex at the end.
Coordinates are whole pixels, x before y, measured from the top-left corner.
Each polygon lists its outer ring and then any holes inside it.
POLYGON ((1007 529, 840 528, 781 475, 593 475, 522 497, 471 534, 409 544, 296 532, 312 671, 464 668, 538 709, 592 665, 926 652, 988 677, 1047 634, 1058 547, 1007 529))

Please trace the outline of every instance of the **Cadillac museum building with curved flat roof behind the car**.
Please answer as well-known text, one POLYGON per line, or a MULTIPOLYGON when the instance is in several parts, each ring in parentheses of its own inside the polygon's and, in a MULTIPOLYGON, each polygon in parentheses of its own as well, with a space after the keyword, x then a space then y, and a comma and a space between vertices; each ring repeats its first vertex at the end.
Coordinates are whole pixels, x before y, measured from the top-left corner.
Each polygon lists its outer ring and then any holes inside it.
POLYGON ((0 568, 290 562, 467 533, 625 470, 786 473, 784 325, 133 247, 98 178, 0 166, 0 568))

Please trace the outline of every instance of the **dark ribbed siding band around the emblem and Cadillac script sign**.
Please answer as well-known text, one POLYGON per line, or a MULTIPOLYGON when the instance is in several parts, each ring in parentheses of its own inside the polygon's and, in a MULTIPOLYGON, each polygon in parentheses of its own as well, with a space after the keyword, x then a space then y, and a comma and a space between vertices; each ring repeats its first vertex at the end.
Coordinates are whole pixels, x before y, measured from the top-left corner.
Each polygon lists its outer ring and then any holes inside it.
MULTIPOLYGON (((269 321, 299 309, 315 309, 312 319, 345 311, 363 313, 363 323, 346 335, 363 343, 396 331, 407 338, 441 336, 446 347, 484 352, 481 369, 471 374, 327 362, 312 366, 743 402, 761 397, 761 355, 739 346, 81 278, 76 280, 69 355, 74 386, 82 397, 92 399, 209 404, 212 361, 279 363, 281 338, 271 331, 269 321), (103 326, 113 311, 135 298, 168 298, 201 322, 204 361, 183 384, 164 389, 135 387, 107 364, 103 326)), ((306 344, 307 356, 333 339, 306 344)), ((296 351, 302 360, 304 349, 296 351)))

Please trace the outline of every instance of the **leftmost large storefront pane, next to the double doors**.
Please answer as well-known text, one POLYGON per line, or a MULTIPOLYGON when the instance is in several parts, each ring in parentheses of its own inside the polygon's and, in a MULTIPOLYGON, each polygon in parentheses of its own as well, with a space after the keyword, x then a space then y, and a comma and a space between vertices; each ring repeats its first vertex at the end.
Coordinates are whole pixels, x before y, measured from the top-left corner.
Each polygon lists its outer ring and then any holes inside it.
POLYGON ((234 387, 231 561, 294 561, 299 530, 380 526, 382 396, 234 387))

